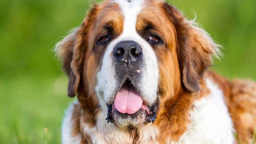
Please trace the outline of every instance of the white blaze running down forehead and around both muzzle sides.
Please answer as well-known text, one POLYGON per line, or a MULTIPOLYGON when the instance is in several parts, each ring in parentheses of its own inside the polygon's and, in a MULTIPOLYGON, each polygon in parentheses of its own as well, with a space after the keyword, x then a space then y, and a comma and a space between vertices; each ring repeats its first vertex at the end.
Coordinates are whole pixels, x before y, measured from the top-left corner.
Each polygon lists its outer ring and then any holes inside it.
MULTIPOLYGON (((136 31, 137 15, 144 7, 144 0, 114 0, 113 3, 119 4, 124 23, 123 32, 113 40, 106 49, 102 59, 102 67, 97 74, 96 92, 101 105, 114 99, 114 90, 116 89, 115 66, 113 66, 112 52, 114 47, 121 41, 132 40, 142 48, 143 64, 140 70, 141 82, 140 91, 143 93, 142 98, 152 104, 155 102, 158 85, 158 64, 156 55, 151 45, 145 41, 136 31)), ((135 71, 136 72, 136 71, 135 71)))

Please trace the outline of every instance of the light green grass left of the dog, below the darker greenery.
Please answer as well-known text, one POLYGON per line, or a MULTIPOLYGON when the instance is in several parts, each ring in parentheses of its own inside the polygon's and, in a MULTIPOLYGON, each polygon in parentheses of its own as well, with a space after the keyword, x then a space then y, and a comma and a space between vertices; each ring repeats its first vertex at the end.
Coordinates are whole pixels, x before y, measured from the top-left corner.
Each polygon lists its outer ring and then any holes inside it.
POLYGON ((48 141, 60 143, 66 97, 66 77, 16 78, 0 84, 0 143, 42 144, 44 127, 48 141))

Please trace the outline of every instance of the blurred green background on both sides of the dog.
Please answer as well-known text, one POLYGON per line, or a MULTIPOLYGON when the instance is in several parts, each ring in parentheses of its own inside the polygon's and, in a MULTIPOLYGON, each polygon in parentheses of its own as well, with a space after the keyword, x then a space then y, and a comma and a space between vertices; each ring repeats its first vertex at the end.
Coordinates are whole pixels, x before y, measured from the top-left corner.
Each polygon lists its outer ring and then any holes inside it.
MULTIPOLYGON (((256 0, 170 0, 223 45, 212 66, 228 77, 256 80, 256 0)), ((60 143, 64 110, 74 99, 52 47, 79 26, 88 0, 0 1, 0 144, 60 143)))

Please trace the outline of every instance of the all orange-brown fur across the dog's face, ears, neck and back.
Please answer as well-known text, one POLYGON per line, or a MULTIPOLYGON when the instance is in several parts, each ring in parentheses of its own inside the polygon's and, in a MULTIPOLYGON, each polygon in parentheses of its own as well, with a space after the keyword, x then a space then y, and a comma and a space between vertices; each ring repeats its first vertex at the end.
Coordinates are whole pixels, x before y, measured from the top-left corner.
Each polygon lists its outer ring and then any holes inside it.
MULTIPOLYGON (((106 24, 115 28, 116 37, 123 31, 120 9, 109 2, 95 4, 81 26, 64 38, 64 43, 58 44, 64 70, 69 76, 69 97, 78 96, 79 106, 74 106, 72 120, 73 135, 82 136, 81 144, 92 143, 81 126, 95 126, 97 114, 102 111, 95 94, 95 78, 104 50, 94 47, 95 40, 99 39, 97 34, 104 33, 101 28, 106 24)), ((161 27, 155 31, 165 43, 154 47, 159 58, 159 111, 153 125, 159 128, 156 138, 159 143, 166 143, 166 138, 178 141, 187 130, 192 103, 209 93, 205 77, 211 78, 223 91, 241 142, 250 142, 256 124, 256 84, 242 80, 229 82, 211 71, 206 72, 212 64, 211 56, 219 53, 218 45, 171 5, 162 1, 147 1, 146 5, 137 16, 137 32, 143 35, 148 23, 161 27)), ((137 143, 137 129, 130 130, 130 137, 137 143)))

